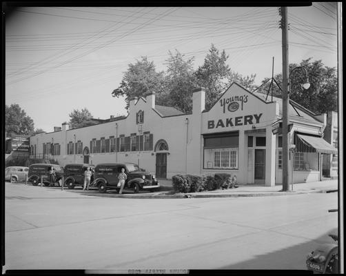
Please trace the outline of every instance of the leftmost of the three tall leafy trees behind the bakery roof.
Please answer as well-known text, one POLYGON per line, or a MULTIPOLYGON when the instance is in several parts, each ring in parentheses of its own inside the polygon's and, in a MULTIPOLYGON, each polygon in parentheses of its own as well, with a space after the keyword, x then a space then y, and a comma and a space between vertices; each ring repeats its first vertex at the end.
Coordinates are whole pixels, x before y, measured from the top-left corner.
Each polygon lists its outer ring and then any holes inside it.
POLYGON ((154 62, 142 57, 136 63, 129 64, 120 86, 113 90, 112 97, 125 97, 126 109, 132 97, 143 96, 146 92, 161 94, 165 90, 163 72, 156 72, 154 62))

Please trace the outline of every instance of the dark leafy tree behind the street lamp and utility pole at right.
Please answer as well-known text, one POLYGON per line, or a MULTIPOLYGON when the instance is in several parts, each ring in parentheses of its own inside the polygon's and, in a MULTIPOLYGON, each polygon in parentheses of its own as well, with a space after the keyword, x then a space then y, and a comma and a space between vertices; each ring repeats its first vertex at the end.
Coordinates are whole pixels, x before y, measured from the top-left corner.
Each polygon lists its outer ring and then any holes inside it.
MULTIPOLYGON (((305 75, 300 70, 296 70, 293 75, 290 75, 290 99, 314 113, 337 111, 338 80, 336 77, 336 68, 324 66, 321 60, 312 61, 310 57, 309 59, 303 59, 300 64, 289 64, 289 72, 292 72, 298 66, 307 70, 310 87, 307 90, 301 87, 301 84, 305 81, 305 75)), ((274 79, 282 88, 282 74, 275 75, 274 79)), ((262 83, 265 83, 267 80, 267 78, 264 79, 262 83)), ((258 92, 267 93, 268 83, 269 81, 258 92)), ((274 86, 273 96, 282 96, 282 92, 277 86, 274 86)))

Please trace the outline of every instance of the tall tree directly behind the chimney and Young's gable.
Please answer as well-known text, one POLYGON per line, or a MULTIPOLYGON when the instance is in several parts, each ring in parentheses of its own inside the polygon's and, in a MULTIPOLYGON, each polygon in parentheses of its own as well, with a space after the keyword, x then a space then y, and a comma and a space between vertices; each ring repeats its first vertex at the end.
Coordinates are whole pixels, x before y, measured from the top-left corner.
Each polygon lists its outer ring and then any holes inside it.
POLYGON ((212 107, 221 93, 225 92, 226 88, 234 81, 247 89, 254 87, 256 75, 243 77, 237 72, 233 72, 227 64, 228 57, 229 55, 226 55, 225 50, 220 53, 212 44, 209 53, 204 59, 203 66, 199 66, 196 70, 196 79, 199 86, 203 86, 206 89, 205 106, 207 110, 212 107))

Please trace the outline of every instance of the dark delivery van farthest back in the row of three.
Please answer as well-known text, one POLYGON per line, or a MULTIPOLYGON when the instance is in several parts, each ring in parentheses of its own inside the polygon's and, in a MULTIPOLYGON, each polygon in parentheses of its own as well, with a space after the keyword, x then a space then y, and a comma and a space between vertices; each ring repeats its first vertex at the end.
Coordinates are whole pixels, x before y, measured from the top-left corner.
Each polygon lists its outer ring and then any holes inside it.
POLYGON ((32 185, 37 186, 41 183, 41 176, 43 179, 43 185, 50 185, 50 167, 53 167, 55 170, 55 183, 54 186, 60 186, 59 180, 63 177, 63 169, 57 164, 32 164, 29 166, 28 181, 32 185))

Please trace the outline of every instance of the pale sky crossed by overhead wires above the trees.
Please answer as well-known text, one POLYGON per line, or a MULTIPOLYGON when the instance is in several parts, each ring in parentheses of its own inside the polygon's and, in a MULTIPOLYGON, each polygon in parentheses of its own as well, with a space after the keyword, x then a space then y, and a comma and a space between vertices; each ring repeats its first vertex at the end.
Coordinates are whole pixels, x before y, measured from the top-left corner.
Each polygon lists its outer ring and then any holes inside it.
MULTIPOLYGON (((337 67, 336 3, 289 7, 289 63, 337 67)), ((141 57, 167 70, 169 51, 194 68, 208 50, 225 50, 231 70, 255 83, 282 72, 278 7, 18 7, 5 26, 6 105, 17 103, 34 128, 52 132, 87 108, 94 118, 126 115, 112 97, 141 57)))

